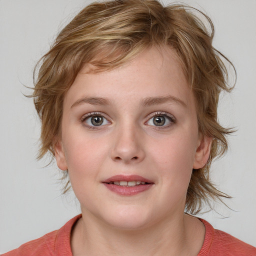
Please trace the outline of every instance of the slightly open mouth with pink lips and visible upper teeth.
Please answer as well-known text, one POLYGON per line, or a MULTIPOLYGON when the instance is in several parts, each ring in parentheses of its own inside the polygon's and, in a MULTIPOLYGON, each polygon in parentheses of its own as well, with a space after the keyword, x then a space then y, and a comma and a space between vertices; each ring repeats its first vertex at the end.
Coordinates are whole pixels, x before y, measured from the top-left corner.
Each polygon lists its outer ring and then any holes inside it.
POLYGON ((153 181, 138 175, 115 175, 102 183, 112 192, 120 195, 135 195, 148 190, 153 181))

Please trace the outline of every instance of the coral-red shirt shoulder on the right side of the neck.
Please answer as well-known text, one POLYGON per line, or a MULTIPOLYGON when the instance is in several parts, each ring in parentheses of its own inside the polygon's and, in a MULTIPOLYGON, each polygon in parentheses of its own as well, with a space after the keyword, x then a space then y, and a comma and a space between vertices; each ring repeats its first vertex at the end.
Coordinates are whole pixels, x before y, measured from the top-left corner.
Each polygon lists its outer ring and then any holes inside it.
POLYGON ((214 229, 204 219, 200 220, 205 226, 205 236, 198 256, 256 256, 256 247, 253 247, 226 232, 214 229))

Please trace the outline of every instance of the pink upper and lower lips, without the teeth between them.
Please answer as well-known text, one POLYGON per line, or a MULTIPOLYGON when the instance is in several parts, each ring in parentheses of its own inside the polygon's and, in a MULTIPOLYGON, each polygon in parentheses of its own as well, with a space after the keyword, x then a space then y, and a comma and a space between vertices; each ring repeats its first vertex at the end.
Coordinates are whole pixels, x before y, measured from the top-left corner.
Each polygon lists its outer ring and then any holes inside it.
POLYGON ((149 188, 151 188, 153 186, 153 182, 149 179, 146 179, 142 176, 139 175, 115 175, 112 176, 110 178, 105 179, 104 181, 102 181, 102 183, 112 192, 115 192, 119 195, 135 195, 138 193, 141 193, 145 190, 148 190, 149 188), (146 182, 146 184, 139 184, 139 185, 135 185, 135 186, 121 186, 121 185, 115 185, 115 184, 109 184, 108 182, 113 182, 113 181, 119 181, 119 180, 123 180, 123 181, 143 181, 146 182))

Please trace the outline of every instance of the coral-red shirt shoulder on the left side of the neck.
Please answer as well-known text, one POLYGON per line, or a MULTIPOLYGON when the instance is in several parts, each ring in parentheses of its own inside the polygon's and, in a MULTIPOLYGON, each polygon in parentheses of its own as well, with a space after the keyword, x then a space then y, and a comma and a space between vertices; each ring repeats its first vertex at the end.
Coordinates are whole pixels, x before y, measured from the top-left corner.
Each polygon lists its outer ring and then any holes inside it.
POLYGON ((60 229, 31 240, 18 248, 2 254, 1 256, 71 256, 70 236, 74 223, 80 218, 77 215, 65 223, 60 229))

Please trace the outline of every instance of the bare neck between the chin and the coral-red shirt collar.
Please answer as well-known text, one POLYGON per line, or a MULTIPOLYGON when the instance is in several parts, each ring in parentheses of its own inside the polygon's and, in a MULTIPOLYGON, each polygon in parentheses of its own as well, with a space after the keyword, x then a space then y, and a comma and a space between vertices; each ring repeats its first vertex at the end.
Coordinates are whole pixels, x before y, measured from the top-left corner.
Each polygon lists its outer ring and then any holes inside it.
POLYGON ((117 229, 88 220, 79 219, 73 229, 73 256, 197 255, 204 238, 203 224, 186 214, 136 230, 117 229))

